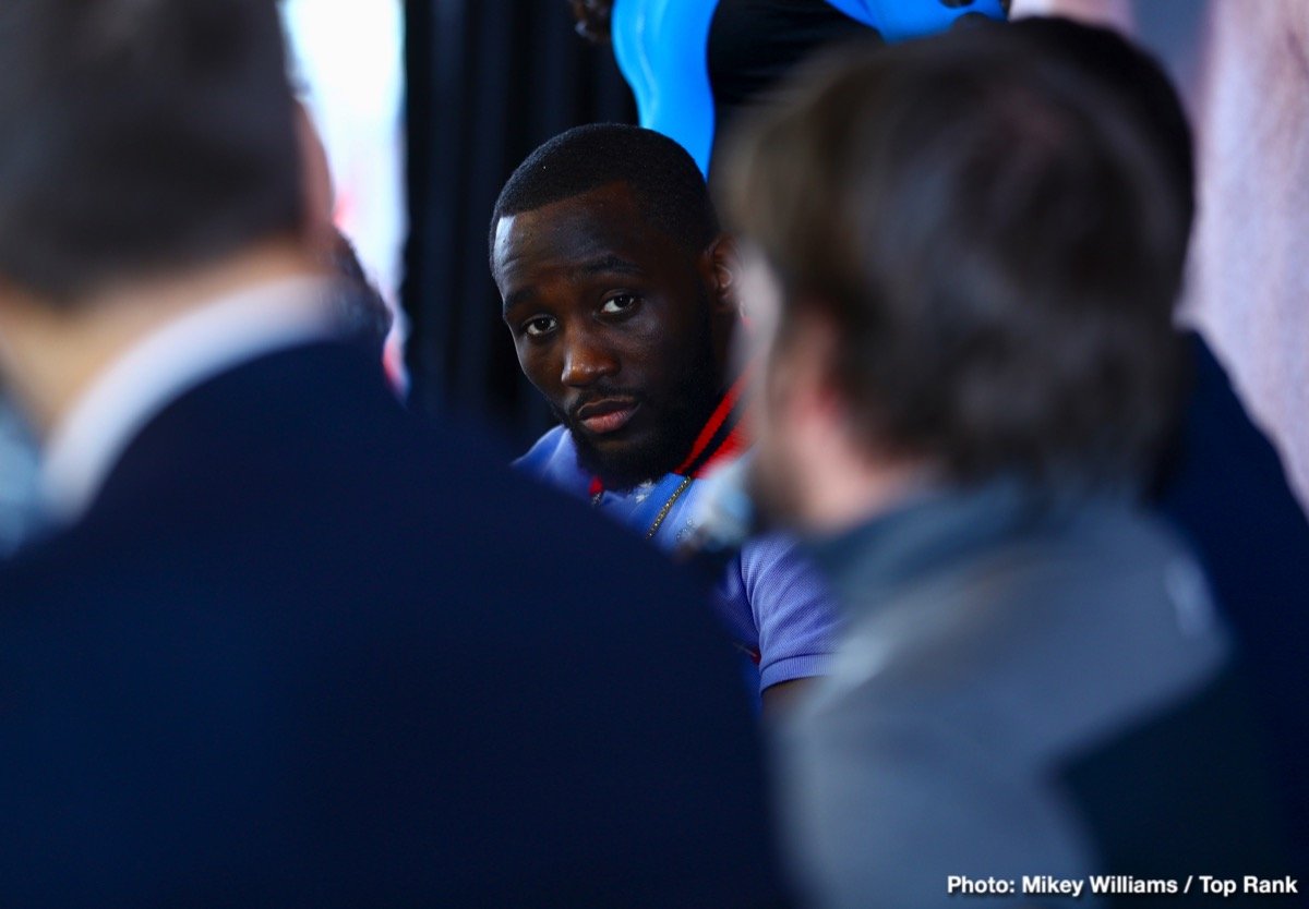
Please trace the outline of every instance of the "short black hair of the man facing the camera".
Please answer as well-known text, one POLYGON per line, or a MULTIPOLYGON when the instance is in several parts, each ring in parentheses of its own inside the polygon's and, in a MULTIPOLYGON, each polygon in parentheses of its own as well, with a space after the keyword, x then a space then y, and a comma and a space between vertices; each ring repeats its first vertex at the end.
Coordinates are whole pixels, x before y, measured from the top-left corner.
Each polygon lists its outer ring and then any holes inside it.
POLYGON ((610 183, 631 188, 651 224, 691 254, 702 252, 719 234, 704 177, 686 149, 653 129, 593 123, 559 133, 509 177, 491 214, 492 260, 500 218, 610 183))

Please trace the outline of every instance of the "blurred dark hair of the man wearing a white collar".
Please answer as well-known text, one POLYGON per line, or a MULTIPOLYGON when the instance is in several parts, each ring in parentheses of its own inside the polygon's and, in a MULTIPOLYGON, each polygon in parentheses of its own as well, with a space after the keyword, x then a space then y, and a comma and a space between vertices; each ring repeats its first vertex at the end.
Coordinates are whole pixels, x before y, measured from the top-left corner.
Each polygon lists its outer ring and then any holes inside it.
POLYGON ((271 0, 8 0, 0 273, 55 302, 302 222, 271 0))

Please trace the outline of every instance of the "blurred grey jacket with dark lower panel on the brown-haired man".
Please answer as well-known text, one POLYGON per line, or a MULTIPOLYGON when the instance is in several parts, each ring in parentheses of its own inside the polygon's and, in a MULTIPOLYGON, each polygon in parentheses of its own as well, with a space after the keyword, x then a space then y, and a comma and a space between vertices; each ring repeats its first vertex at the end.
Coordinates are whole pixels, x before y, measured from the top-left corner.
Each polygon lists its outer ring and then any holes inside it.
POLYGON ((818 905, 1068 905, 1049 888, 1077 882, 1096 905, 1092 875, 1119 875, 1114 902, 1131 879, 1291 871, 1206 582, 1124 500, 995 483, 814 555, 850 624, 778 744, 818 905))

